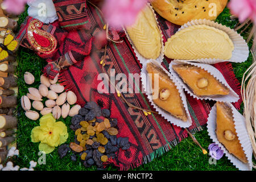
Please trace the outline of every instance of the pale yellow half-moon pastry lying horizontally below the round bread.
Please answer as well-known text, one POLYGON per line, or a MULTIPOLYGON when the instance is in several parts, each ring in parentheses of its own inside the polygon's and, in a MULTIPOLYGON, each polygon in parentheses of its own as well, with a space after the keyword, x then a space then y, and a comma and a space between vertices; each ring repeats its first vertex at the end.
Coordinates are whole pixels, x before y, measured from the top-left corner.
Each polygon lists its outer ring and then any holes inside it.
POLYGON ((164 45, 164 55, 171 59, 223 59, 232 57, 234 44, 226 32, 205 24, 184 28, 164 45))

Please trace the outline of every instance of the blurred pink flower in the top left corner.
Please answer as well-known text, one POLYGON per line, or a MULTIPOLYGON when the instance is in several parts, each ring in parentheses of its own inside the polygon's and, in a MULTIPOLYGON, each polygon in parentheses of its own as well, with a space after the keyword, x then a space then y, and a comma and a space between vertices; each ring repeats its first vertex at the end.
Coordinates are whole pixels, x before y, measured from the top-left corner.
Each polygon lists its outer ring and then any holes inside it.
POLYGON ((24 6, 29 0, 5 0, 3 6, 11 14, 20 14, 24 11, 24 6))

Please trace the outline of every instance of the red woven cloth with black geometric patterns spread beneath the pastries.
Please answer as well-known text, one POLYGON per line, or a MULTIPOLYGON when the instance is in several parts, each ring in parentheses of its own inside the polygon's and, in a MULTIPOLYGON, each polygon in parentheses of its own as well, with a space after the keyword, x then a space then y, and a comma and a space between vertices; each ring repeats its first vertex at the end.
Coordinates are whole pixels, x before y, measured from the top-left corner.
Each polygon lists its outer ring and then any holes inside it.
MULTIPOLYGON (((100 27, 104 26, 103 18, 93 6, 88 6, 88 15, 93 28, 85 34, 80 34, 82 42, 89 40, 95 32, 100 31, 100 27)), ((158 20, 163 31, 164 42, 166 42, 170 36, 175 34, 179 26, 160 16, 158 16, 158 20)), ((127 106, 117 94, 98 93, 97 86, 101 82, 98 75, 102 73, 100 61, 103 57, 104 49, 92 51, 90 56, 86 56, 84 60, 62 71, 59 81, 65 85, 66 89, 77 94, 78 104, 84 105, 86 101, 96 101, 102 108, 111 111, 112 118, 118 118, 118 137, 129 137, 131 147, 127 151, 120 149, 117 152, 117 159, 110 160, 109 163, 119 167, 120 170, 138 167, 143 163, 150 162, 156 156, 164 154, 172 146, 188 137, 185 129, 170 124, 158 114, 146 116, 143 111, 127 106)), ((168 68, 170 61, 170 59, 164 59, 163 66, 168 68)), ((221 71, 229 85, 240 95, 239 82, 234 76, 232 65, 220 63, 214 66, 221 71)), ((141 68, 142 65, 137 60, 126 37, 123 38, 122 43, 108 44, 105 69, 109 75, 111 69, 114 69, 115 76, 118 73, 125 73, 127 78, 130 73, 139 76, 141 68)), ((129 86, 133 86, 134 93, 123 94, 126 100, 135 106, 153 109, 147 96, 142 92, 141 81, 134 78, 129 84, 129 86)), ((201 126, 207 123, 208 114, 214 102, 195 100, 188 94, 187 101, 193 121, 189 131, 192 133, 201 131, 201 126)), ((238 108, 240 104, 241 100, 234 105, 238 108)))

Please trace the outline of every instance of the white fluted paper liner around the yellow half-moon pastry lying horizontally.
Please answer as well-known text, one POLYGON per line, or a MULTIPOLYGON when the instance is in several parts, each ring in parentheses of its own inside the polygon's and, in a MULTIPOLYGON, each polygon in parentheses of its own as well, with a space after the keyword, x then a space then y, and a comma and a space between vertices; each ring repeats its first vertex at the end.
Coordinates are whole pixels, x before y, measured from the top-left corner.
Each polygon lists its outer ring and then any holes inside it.
POLYGON ((218 57, 216 57, 216 59, 196 59, 196 60, 189 60, 189 61, 198 62, 198 63, 215 64, 215 63, 220 63, 225 61, 242 63, 247 60, 249 56, 249 47, 247 46, 247 43, 245 42, 245 40, 236 31, 222 24, 219 24, 207 19, 196 19, 196 20, 192 20, 191 22, 185 23, 183 26, 179 28, 178 31, 183 30, 184 28, 187 28, 190 26, 197 25, 197 24, 205 24, 226 32, 226 34, 229 35, 229 38, 232 40, 234 44, 234 50, 232 52, 232 57, 229 60, 218 59, 218 57))

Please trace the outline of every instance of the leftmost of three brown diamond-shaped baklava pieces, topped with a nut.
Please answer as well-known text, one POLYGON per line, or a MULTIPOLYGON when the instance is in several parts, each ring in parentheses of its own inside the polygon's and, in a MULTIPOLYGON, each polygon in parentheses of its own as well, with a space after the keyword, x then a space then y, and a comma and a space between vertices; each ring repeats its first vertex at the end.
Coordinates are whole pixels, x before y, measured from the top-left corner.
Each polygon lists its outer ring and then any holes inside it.
POLYGON ((154 103, 175 117, 180 118, 183 121, 187 121, 187 115, 185 113, 180 93, 166 72, 153 63, 147 64, 147 72, 152 74, 150 81, 153 93, 159 96, 156 99, 153 98, 154 103), (154 85, 154 74, 158 74, 159 76, 158 88, 154 85))

